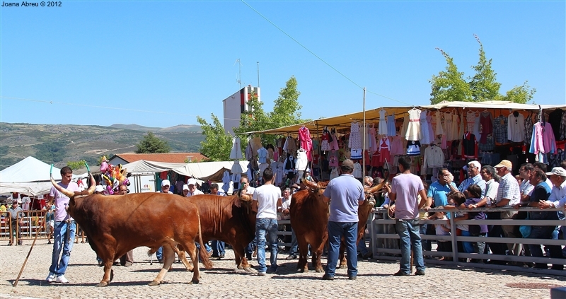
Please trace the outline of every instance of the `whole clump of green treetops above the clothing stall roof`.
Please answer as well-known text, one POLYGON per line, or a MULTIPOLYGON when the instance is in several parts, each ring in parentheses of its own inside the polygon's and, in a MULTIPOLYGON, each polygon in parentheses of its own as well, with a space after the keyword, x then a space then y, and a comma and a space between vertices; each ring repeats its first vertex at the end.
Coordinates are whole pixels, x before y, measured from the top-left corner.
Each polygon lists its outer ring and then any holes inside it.
POLYGON ((511 102, 526 103, 532 100, 536 89, 527 84, 515 86, 508 90, 505 95, 499 93, 501 83, 497 82, 497 73, 492 69, 492 59, 485 57, 483 44, 478 35, 474 35, 475 40, 480 44, 478 64, 472 66, 475 74, 467 79, 464 73, 458 71, 454 64, 454 59, 442 49, 437 48, 446 59, 446 70, 440 71, 438 75, 432 75, 429 80, 431 83, 431 104, 446 101, 481 102, 485 100, 505 100, 511 102))

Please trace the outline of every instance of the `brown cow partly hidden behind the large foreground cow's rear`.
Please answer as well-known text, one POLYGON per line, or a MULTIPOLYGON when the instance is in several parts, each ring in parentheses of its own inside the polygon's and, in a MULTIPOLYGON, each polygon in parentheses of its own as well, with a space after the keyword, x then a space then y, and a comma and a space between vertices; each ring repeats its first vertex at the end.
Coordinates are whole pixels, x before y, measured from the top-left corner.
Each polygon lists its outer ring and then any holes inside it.
POLYGON ((186 200, 199 209, 202 240, 204 242, 220 240, 232 245, 238 269, 251 271, 244 252, 244 248, 255 237, 257 211, 252 211, 251 199, 237 196, 195 195, 187 197, 186 200))

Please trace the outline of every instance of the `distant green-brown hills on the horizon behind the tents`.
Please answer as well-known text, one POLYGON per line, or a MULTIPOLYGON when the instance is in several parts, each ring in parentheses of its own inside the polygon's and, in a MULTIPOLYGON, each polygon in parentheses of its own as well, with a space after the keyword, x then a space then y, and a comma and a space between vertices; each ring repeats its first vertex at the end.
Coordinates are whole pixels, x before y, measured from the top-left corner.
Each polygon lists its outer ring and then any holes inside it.
POLYGON ((171 152, 198 152, 204 140, 202 129, 195 124, 156 128, 138 124, 102 127, 0 122, 0 170, 28 156, 54 163, 57 168, 78 160, 97 165, 100 156, 133 153, 148 131, 167 141, 171 152))

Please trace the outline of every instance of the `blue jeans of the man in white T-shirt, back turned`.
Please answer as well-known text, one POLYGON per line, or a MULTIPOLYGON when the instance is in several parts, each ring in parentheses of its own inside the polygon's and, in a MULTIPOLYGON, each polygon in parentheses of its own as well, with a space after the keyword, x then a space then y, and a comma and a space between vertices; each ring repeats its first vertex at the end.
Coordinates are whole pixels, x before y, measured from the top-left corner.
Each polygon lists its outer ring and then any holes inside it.
POLYGON ((277 270, 277 219, 258 218, 255 221, 255 238, 258 240, 259 272, 267 271, 265 264, 265 235, 269 235, 271 247, 271 269, 277 270))

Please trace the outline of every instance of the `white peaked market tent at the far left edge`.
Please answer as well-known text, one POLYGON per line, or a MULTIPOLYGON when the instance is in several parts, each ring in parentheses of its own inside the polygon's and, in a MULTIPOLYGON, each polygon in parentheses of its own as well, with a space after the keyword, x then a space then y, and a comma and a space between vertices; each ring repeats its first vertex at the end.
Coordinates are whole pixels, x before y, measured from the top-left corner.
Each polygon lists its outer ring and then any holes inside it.
MULTIPOLYGON (((28 157, 0 171, 0 194, 19 192, 37 197, 50 192, 51 165, 28 157)), ((53 168, 53 178, 61 180, 59 168, 53 168)), ((76 176, 74 176, 76 177, 76 176)))

